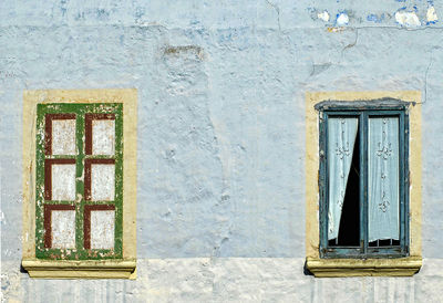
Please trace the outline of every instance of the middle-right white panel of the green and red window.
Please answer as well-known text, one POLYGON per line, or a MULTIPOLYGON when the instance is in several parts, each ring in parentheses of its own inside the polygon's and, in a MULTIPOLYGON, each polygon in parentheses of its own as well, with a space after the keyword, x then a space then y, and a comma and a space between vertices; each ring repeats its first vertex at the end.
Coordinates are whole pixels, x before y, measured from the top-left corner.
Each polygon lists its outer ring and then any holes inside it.
POLYGON ((115 165, 91 165, 91 199, 93 201, 112 201, 115 196, 115 165))

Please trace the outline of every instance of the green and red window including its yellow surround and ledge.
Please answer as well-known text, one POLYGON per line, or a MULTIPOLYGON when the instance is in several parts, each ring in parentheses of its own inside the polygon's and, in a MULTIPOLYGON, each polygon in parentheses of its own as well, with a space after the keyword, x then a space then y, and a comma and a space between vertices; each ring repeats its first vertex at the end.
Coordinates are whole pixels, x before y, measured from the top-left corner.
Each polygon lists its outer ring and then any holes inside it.
POLYGON ((133 278, 135 102, 134 90, 25 93, 31 276, 133 278))

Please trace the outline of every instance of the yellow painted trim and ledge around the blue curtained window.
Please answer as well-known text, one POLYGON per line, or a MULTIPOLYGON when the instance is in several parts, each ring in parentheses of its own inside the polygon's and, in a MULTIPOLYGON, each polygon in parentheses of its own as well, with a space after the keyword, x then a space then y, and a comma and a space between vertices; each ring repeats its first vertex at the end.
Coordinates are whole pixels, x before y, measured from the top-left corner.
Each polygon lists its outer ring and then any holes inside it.
POLYGON ((308 92, 306 94, 306 267, 315 276, 408 276, 422 265, 421 92, 308 92), (413 102, 410 115, 410 255, 395 259, 320 259, 319 255, 319 114, 315 104, 384 97, 413 102))

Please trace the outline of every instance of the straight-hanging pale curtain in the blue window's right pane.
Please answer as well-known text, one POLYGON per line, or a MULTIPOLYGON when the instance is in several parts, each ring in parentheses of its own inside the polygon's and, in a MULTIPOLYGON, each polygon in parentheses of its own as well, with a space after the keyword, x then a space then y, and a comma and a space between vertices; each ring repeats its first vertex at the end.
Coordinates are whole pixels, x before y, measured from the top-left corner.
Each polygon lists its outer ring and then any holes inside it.
POLYGON ((399 118, 369 119, 369 241, 399 240, 399 118))

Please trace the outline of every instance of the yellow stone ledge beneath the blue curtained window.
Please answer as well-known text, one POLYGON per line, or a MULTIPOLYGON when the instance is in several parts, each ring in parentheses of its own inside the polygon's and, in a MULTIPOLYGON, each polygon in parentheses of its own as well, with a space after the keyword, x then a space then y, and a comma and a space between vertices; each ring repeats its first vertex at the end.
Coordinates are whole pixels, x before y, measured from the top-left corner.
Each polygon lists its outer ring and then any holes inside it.
POLYGON ((307 258, 307 269, 317 278, 411 276, 422 267, 421 257, 399 259, 318 259, 307 258))

